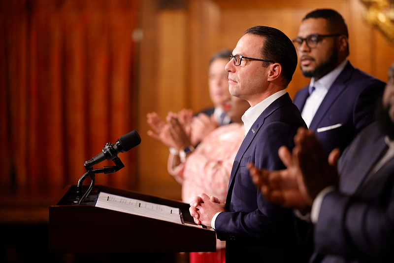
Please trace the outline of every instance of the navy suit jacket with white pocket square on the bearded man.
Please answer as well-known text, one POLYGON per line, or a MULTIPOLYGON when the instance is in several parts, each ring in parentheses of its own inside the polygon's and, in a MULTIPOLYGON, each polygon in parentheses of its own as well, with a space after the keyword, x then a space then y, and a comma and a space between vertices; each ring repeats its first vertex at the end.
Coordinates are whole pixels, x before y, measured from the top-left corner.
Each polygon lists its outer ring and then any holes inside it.
MULTIPOLYGON (((308 87, 299 90, 294 97, 294 104, 300 112, 309 96, 308 87)), ((337 147, 342 152, 357 133, 375 120, 376 101, 384 88, 383 81, 355 69, 350 62, 346 64, 329 88, 309 127, 327 153, 337 147), (317 131, 336 124, 342 126, 317 131)))

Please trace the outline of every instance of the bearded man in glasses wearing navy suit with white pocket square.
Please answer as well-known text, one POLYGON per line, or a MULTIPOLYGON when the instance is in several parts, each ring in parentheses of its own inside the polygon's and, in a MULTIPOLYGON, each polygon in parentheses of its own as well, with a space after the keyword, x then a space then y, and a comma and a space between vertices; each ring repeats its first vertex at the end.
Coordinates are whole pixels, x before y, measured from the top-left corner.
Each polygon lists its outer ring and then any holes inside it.
POLYGON ((293 102, 327 152, 344 150, 374 121, 376 100, 385 85, 350 64, 348 37, 338 12, 318 9, 302 19, 293 39, 302 74, 311 78, 293 102))

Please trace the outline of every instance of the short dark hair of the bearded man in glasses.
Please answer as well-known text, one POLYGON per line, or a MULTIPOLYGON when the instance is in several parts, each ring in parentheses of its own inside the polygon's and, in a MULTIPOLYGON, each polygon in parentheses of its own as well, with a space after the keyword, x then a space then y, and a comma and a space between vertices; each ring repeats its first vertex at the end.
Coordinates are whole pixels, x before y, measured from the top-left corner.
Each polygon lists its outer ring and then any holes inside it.
POLYGON ((345 35, 349 38, 348 27, 345 19, 335 10, 332 9, 316 9, 308 13, 302 21, 308 18, 324 18, 327 20, 327 30, 329 34, 345 35))

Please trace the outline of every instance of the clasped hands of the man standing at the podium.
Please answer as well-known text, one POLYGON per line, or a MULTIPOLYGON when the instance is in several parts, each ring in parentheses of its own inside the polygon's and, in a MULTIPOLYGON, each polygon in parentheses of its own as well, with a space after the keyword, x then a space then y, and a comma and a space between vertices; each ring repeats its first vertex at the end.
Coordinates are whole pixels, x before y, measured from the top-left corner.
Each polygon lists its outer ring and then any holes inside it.
POLYGON ((224 201, 218 197, 209 197, 200 193, 190 203, 189 212, 197 225, 211 226, 211 220, 216 213, 225 212, 224 201))

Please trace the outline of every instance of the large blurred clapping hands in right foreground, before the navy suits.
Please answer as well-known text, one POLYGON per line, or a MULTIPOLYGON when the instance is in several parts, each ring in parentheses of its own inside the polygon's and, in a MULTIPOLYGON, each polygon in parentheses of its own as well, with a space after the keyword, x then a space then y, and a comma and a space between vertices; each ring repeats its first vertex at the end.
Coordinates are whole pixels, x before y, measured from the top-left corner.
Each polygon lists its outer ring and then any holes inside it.
POLYGON ((323 146, 306 128, 298 129, 294 141, 296 146, 292 153, 286 147, 278 150, 287 169, 268 171, 252 164, 248 169, 253 182, 270 202, 287 208, 307 209, 321 190, 338 186, 339 150, 332 150, 327 161, 323 146))

